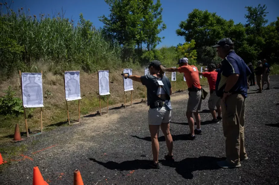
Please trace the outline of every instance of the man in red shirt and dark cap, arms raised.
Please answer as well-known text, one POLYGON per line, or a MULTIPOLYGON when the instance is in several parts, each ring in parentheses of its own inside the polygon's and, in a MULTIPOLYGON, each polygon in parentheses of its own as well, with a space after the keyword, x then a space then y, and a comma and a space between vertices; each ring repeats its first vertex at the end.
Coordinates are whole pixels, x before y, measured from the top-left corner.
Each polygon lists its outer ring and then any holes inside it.
POLYGON ((222 121, 221 117, 221 99, 216 95, 215 85, 218 72, 216 71, 215 64, 208 65, 208 72, 201 73, 200 75, 207 78, 209 83, 210 97, 208 99, 208 108, 212 114, 213 120, 209 121, 211 124, 217 124, 219 121, 222 121), (217 108, 218 116, 216 117, 215 106, 217 108))

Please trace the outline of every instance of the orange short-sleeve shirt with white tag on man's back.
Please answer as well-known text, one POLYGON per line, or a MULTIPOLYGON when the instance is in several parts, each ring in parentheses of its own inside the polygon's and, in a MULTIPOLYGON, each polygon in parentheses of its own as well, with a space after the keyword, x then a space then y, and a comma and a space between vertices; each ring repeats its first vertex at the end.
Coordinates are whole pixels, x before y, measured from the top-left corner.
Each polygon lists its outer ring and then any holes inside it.
POLYGON ((192 88, 194 86, 194 87, 197 87, 198 89, 201 89, 199 71, 196 66, 184 65, 184 66, 178 67, 178 72, 184 73, 188 88, 192 88))

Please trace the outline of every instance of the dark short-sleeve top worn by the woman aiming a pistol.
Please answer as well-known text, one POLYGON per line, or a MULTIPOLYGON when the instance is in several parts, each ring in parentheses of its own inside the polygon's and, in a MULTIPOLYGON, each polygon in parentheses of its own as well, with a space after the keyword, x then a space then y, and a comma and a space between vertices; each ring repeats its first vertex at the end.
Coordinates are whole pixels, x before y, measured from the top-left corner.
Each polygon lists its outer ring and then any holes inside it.
POLYGON ((153 105, 154 102, 159 101, 160 98, 157 96, 157 90, 159 83, 157 80, 161 80, 165 92, 168 94, 168 99, 170 100, 170 88, 172 87, 168 77, 163 76, 163 78, 157 78, 153 75, 145 75, 140 77, 141 83, 147 88, 147 105, 153 105))

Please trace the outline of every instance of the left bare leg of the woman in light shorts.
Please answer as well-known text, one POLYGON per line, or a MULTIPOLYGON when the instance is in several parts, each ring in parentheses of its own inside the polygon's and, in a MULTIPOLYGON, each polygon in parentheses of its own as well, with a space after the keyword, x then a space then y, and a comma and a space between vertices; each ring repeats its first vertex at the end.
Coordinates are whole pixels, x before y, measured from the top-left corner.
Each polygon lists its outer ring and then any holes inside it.
POLYGON ((160 125, 149 125, 149 131, 152 143, 153 162, 156 164, 159 161, 159 141, 158 132, 160 125))

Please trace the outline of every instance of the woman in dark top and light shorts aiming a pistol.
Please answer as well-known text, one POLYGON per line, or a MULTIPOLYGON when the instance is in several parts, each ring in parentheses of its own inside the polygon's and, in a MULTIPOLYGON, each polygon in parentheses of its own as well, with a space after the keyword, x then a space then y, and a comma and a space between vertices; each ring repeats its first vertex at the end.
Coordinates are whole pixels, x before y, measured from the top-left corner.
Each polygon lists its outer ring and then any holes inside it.
POLYGON ((172 106, 170 103, 170 95, 172 94, 172 86, 168 77, 164 76, 165 67, 162 66, 160 61, 154 60, 148 66, 150 75, 137 76, 123 74, 124 78, 141 82, 147 88, 147 105, 148 111, 148 124, 151 135, 153 163, 152 168, 160 168, 159 164, 159 141, 158 134, 161 127, 165 135, 168 154, 165 159, 174 161, 172 155, 173 140, 169 131, 169 122, 171 121, 172 106))

